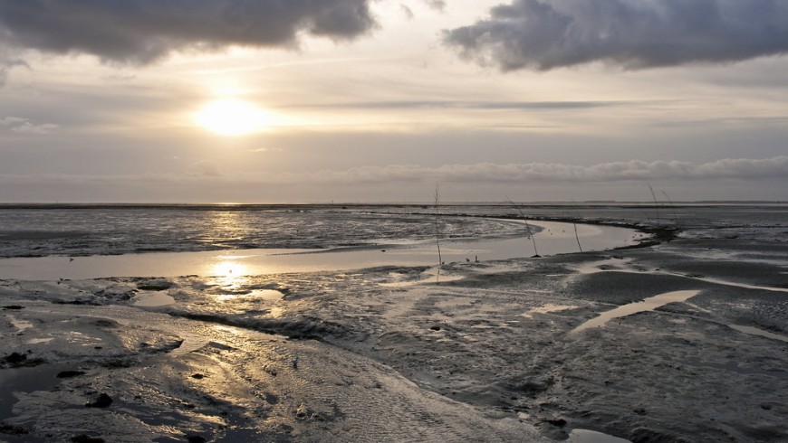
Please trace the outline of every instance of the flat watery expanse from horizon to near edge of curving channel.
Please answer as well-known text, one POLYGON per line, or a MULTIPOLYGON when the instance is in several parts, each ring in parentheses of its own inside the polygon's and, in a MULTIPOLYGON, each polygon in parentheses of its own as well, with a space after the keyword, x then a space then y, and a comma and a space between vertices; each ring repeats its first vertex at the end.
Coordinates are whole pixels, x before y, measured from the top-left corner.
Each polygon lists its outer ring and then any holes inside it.
POLYGON ((786 221, 784 203, 0 204, 0 278, 424 266, 611 250, 655 227, 784 241, 786 221))

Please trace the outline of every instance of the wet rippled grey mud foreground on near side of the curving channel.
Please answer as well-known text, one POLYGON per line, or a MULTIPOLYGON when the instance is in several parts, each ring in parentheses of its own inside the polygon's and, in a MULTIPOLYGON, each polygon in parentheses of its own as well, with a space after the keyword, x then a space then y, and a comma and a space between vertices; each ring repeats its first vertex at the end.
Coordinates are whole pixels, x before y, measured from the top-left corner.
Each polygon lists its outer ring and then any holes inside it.
POLYGON ((399 266, 0 280, 0 380, 17 386, 0 440, 786 441, 788 244, 684 228, 450 263, 462 278, 438 282, 399 266))

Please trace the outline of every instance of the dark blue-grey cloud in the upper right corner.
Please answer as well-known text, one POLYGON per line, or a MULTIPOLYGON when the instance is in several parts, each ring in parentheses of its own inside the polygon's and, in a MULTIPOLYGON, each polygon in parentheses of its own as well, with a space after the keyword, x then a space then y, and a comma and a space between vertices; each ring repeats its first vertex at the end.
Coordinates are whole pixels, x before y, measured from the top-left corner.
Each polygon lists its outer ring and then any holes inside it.
POLYGON ((463 57, 503 71, 744 61, 788 52, 788 2, 514 0, 443 37, 463 57))

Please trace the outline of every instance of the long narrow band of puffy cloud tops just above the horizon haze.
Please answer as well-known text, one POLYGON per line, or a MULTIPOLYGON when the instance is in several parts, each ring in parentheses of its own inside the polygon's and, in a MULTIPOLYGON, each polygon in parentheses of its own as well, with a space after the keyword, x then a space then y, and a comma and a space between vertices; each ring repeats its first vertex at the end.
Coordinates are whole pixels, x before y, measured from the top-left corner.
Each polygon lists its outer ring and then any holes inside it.
POLYGON ((621 183, 629 181, 713 181, 763 180, 788 181, 788 156, 766 159, 736 158, 696 165, 679 161, 610 162, 597 165, 564 165, 552 163, 364 166, 346 170, 326 170, 317 173, 248 174, 222 171, 213 162, 188 165, 183 173, 144 173, 134 175, 64 175, 0 174, 0 184, 16 181, 34 182, 158 182, 183 183, 216 180, 222 183, 243 184, 589 184, 621 183))

